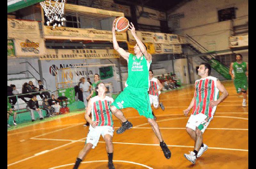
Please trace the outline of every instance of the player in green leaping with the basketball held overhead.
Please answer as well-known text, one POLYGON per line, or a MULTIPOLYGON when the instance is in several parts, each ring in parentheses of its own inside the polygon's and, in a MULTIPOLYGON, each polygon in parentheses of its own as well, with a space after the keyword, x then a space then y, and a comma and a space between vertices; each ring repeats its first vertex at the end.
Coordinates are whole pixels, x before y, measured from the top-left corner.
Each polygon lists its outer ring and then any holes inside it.
POLYGON ((131 23, 130 28, 128 28, 132 36, 135 38, 137 44, 134 46, 134 54, 126 52, 123 48, 118 46, 116 41, 115 32, 115 21, 113 22, 113 45, 114 49, 127 61, 128 63, 128 78, 125 83, 124 91, 121 92, 115 101, 112 103, 111 111, 112 113, 122 121, 122 126, 117 129, 116 133, 121 134, 126 129, 132 128, 132 123, 128 121, 123 112, 120 109, 126 107, 135 108, 140 115, 145 116, 148 119, 148 123, 151 125, 154 133, 156 134, 160 146, 164 151, 165 158, 171 158, 171 151, 164 143, 159 126, 154 120, 152 115, 152 109, 150 106, 148 89, 149 89, 149 67, 152 62, 152 56, 146 50, 144 44, 140 41, 135 33, 135 28, 131 23))

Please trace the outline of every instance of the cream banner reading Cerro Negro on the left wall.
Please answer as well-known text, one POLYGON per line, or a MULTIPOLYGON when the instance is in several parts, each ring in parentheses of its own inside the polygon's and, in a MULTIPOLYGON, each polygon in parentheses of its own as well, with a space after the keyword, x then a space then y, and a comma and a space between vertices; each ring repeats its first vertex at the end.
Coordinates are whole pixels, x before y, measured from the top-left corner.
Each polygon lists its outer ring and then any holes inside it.
POLYGON ((45 55, 45 46, 43 38, 16 38, 15 39, 16 56, 35 56, 45 55))

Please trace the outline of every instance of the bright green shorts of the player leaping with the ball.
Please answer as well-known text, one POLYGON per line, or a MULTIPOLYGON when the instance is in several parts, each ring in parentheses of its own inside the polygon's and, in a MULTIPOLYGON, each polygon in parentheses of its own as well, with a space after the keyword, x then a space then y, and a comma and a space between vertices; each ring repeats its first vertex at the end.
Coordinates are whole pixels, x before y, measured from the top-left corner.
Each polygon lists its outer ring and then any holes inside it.
POLYGON ((115 101, 111 104, 118 109, 133 107, 140 115, 153 119, 152 109, 148 97, 148 90, 144 88, 134 88, 127 86, 115 101))

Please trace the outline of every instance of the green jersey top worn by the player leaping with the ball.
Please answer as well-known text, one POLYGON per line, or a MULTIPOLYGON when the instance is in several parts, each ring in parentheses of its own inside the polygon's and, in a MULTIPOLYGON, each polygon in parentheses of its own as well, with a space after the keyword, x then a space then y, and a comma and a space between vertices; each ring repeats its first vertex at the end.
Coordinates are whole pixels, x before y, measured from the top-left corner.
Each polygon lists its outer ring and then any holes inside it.
POLYGON ((145 56, 141 56, 139 59, 133 55, 129 55, 128 59, 128 78, 125 86, 132 86, 134 88, 149 89, 149 67, 150 63, 147 62, 145 56))

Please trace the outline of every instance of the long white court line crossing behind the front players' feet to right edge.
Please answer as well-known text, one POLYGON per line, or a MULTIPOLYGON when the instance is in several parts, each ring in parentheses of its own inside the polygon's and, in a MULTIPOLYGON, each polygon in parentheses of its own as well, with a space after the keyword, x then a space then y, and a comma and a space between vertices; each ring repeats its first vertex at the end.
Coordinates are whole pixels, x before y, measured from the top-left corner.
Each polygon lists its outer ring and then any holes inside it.
MULTIPOLYGON (((54 141, 72 141, 72 142, 84 142, 78 140, 61 140, 61 139, 52 139, 52 138, 34 138, 35 140, 54 140, 54 141)), ((81 140, 81 139, 80 139, 81 140)), ((103 141, 99 141, 98 143, 105 143, 103 141)), ((124 143, 124 142, 113 142, 115 144, 131 144, 131 145, 151 145, 151 146, 159 146, 159 144, 146 144, 146 143, 124 143)), ((187 147, 194 148, 194 146, 186 146, 186 145, 167 145, 170 147, 187 147)), ((246 149, 230 149, 230 148, 221 148, 221 147, 208 147, 208 149, 217 149, 217 150, 232 150, 232 151, 248 151, 246 149)))

